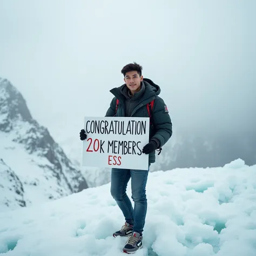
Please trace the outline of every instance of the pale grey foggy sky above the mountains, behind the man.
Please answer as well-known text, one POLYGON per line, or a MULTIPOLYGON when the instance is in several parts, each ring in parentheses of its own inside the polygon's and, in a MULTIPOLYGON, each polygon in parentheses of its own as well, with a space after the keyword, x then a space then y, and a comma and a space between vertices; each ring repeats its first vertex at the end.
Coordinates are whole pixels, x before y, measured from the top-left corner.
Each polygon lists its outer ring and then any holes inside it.
POLYGON ((255 130, 254 0, 5 0, 0 10, 0 77, 57 142, 105 115, 131 62, 161 87, 174 131, 255 130))

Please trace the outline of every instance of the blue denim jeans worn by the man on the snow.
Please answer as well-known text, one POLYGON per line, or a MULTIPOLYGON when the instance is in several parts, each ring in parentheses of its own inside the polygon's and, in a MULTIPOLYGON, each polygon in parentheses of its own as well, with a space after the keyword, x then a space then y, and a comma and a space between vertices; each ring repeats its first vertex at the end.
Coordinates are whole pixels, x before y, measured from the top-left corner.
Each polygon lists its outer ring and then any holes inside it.
POLYGON ((124 214, 125 221, 133 225, 133 231, 141 233, 147 212, 146 183, 149 171, 116 169, 111 171, 111 195, 124 214), (132 200, 126 194, 127 183, 131 178, 132 200))

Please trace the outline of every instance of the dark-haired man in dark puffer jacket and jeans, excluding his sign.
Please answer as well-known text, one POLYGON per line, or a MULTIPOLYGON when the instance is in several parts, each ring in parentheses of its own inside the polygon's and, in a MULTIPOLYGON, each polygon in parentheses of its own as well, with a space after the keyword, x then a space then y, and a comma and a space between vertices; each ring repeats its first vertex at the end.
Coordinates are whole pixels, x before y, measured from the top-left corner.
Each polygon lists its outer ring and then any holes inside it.
MULTIPOLYGON (((113 88, 110 92, 114 95, 106 117, 149 117, 147 103, 154 100, 152 106, 153 126, 150 126, 150 142, 143 148, 143 153, 149 154, 149 167, 155 162, 155 151, 161 147, 172 136, 172 122, 169 111, 158 95, 160 87, 152 80, 143 78, 142 66, 131 63, 124 66, 121 71, 124 82, 120 87, 113 88), (117 105, 117 99, 119 104, 117 105)), ((80 139, 86 139, 84 130, 80 132, 80 139)), ((114 237, 129 237, 123 252, 134 253, 142 248, 143 228, 147 211, 146 183, 149 170, 111 170, 111 195, 124 214, 125 224, 113 233, 114 237), (132 199, 127 197, 126 187, 131 178, 132 199)))

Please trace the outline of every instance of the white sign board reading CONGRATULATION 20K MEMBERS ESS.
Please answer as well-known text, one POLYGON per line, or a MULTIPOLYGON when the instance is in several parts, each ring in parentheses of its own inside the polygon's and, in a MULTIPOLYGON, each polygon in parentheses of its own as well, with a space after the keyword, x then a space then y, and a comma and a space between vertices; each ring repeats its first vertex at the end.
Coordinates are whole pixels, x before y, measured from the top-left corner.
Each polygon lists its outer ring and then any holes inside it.
POLYGON ((85 117, 83 166, 148 170, 149 117, 85 117))

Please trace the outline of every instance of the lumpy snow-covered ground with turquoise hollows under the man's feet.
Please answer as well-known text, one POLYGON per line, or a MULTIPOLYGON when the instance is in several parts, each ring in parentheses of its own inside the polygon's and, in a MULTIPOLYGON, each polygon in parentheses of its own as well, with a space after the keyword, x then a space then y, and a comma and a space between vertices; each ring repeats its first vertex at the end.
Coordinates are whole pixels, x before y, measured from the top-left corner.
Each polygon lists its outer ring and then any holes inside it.
MULTIPOLYGON (((127 193, 131 196, 130 183, 127 193)), ((149 174, 143 249, 151 256, 255 256, 256 166, 149 174)), ((124 224, 110 184, 0 213, 0 253, 18 256, 124 255, 124 224)))

